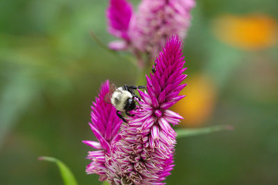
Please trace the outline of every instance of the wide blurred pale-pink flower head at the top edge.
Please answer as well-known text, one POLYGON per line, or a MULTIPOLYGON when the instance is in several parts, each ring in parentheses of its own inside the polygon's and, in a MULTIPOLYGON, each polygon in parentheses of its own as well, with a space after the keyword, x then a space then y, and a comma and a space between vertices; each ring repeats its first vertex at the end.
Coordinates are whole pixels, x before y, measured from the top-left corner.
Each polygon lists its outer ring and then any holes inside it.
POLYGON ((166 38, 185 38, 195 0, 142 0, 129 31, 133 45, 155 57, 166 38))

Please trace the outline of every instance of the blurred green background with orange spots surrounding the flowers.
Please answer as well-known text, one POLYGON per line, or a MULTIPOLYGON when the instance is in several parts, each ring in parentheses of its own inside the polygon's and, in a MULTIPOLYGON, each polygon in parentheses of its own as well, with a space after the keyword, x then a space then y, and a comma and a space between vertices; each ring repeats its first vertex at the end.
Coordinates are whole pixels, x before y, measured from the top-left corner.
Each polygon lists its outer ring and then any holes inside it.
MULTIPOLYGON (((134 4, 139 1, 132 1, 134 4)), ((79 184, 93 140, 87 122, 101 82, 136 83, 136 66, 107 44, 108 1, 1 0, 0 184, 62 184, 54 156, 79 184)), ((276 0, 197 0, 184 42, 188 95, 180 127, 234 131, 179 138, 167 184, 278 184, 276 0)))

